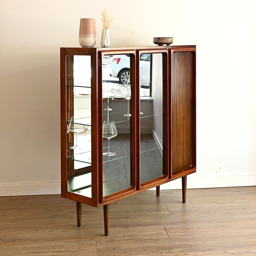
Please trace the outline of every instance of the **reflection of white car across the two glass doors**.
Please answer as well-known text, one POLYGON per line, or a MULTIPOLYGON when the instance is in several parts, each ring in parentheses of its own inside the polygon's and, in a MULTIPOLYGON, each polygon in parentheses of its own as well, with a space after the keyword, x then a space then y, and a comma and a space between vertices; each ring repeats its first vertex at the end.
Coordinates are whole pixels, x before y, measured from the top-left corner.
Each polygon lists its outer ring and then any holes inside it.
MULTIPOLYGON (((109 65, 110 76, 118 77, 122 84, 130 83, 130 56, 113 55, 113 61, 109 65)), ((139 81, 140 84, 147 84, 149 88, 150 80, 150 54, 140 55, 139 61, 139 81)))

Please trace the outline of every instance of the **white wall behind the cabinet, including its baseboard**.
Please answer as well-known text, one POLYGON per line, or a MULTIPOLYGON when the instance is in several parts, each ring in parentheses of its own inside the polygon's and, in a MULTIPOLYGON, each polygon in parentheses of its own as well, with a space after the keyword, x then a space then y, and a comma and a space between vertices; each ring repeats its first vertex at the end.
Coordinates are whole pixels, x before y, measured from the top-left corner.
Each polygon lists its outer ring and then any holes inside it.
POLYGON ((197 46, 188 187, 256 185, 255 0, 0 0, 0 195, 60 192, 59 47, 79 47, 80 18, 96 18, 99 46, 104 8, 111 46, 197 46))

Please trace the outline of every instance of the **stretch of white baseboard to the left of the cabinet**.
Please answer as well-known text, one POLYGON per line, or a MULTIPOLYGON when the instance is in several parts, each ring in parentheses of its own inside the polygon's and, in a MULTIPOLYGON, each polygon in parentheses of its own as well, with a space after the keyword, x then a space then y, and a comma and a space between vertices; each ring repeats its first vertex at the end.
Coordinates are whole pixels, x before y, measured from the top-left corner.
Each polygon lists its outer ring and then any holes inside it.
POLYGON ((0 196, 60 194, 60 183, 0 185, 0 196))

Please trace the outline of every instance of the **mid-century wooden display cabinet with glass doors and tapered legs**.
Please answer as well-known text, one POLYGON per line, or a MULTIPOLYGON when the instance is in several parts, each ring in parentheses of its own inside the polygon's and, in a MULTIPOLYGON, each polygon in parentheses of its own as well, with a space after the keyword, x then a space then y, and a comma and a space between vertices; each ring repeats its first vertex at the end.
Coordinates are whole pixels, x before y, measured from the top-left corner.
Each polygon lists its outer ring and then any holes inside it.
POLYGON ((61 194, 103 206, 196 171, 196 47, 61 48, 61 194))

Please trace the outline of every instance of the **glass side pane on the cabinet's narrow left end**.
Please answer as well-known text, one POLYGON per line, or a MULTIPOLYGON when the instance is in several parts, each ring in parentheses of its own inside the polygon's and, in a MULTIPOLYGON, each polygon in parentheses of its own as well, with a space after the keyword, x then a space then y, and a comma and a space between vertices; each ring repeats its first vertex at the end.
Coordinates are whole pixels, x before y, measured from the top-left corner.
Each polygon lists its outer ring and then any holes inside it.
POLYGON ((67 60, 67 186, 91 198, 91 56, 67 60))

